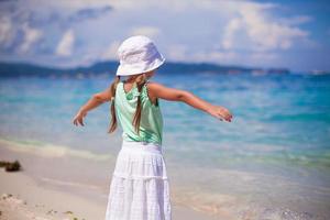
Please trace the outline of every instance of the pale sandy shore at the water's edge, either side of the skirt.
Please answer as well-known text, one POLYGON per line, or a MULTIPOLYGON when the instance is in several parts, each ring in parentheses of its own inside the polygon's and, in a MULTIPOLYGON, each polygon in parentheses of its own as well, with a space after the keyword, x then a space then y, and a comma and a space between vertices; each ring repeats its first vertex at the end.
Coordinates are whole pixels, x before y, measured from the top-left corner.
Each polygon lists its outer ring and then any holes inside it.
MULTIPOLYGON (((13 151, 4 144, 0 145, 0 160, 19 160, 23 167, 22 170, 14 173, 8 173, 4 168, 0 170, 1 220, 105 219, 108 191, 105 191, 102 187, 98 187, 95 179, 88 180, 86 176, 90 174, 88 169, 94 167, 92 163, 84 170, 79 160, 41 157, 34 153, 13 151), (58 175, 64 168, 66 170, 63 172, 63 176, 58 175), (72 170, 67 172, 68 169, 72 170), (36 173, 38 177, 36 177, 36 173), (73 175, 68 176, 67 174, 73 175), (79 182, 77 184, 77 179, 80 179, 84 175, 86 183, 79 182), (40 178, 40 176, 44 177, 40 178), (54 179, 53 176, 61 176, 62 178, 54 179)), ((113 163, 107 165, 112 166, 113 163)), ((108 169, 112 170, 111 168, 113 169, 113 167, 108 169)), ((110 178, 109 173, 106 185, 110 184, 110 178)), ((216 218, 193 210, 173 199, 173 219, 215 220, 227 218, 219 216, 216 218)))

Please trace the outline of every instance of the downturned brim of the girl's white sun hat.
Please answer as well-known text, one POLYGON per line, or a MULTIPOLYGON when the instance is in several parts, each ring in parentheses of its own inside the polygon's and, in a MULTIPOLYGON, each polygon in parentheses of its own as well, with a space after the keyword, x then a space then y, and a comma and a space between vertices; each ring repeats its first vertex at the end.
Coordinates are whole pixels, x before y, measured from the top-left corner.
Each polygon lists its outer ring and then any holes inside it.
POLYGON ((165 63, 165 58, 161 55, 161 57, 155 58, 151 64, 120 64, 117 68, 117 76, 131 76, 136 74, 142 74, 146 72, 151 72, 153 69, 158 68, 165 63))

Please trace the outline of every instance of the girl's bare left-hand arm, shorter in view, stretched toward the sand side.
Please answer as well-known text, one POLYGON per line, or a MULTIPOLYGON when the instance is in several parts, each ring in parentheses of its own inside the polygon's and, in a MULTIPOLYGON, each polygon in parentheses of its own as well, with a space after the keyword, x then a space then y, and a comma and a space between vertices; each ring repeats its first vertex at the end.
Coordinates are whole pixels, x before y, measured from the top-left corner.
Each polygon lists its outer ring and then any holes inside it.
POLYGON ((82 119, 87 116, 87 112, 91 109, 99 107, 101 103, 106 101, 110 101, 112 97, 110 87, 106 90, 95 94, 91 98, 79 109, 77 114, 74 117, 73 122, 75 125, 85 125, 82 119))

